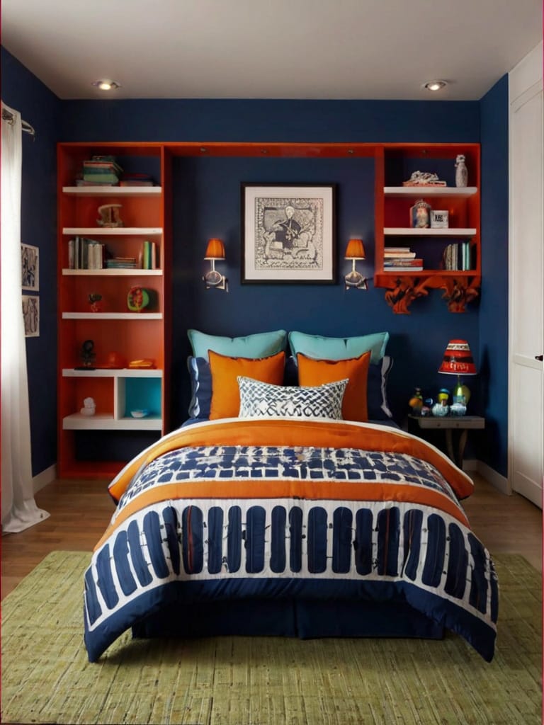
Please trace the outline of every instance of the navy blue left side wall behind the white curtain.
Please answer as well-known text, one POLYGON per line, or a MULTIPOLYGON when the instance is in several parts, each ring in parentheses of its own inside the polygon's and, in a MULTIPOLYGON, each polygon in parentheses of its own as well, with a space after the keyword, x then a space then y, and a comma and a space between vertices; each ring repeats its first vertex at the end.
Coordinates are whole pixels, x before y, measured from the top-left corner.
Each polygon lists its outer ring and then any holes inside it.
MULTIPOLYGON (((22 134, 21 240, 38 247, 40 336, 26 341, 32 471, 57 462, 57 143, 61 104, 1 49, 2 100, 36 129, 22 134)), ((14 305, 20 305, 14 300, 14 305)))

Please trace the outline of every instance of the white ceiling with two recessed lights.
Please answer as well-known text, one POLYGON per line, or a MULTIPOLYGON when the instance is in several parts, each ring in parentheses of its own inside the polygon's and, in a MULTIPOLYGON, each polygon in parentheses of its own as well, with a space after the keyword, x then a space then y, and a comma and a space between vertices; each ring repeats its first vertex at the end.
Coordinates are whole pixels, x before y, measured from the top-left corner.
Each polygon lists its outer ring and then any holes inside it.
POLYGON ((480 99, 542 0, 2 0, 1 42, 61 99, 480 99), (93 80, 121 88, 104 94, 93 80), (426 80, 448 80, 438 94, 426 80))

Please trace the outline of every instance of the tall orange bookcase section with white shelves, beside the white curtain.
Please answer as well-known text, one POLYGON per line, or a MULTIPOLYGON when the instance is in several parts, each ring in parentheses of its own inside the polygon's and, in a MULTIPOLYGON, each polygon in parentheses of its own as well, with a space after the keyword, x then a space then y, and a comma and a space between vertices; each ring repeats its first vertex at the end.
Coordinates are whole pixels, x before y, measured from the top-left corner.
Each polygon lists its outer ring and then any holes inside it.
POLYGON ((165 149, 156 144, 58 146, 61 478, 110 479, 131 457, 115 436, 123 436, 125 441, 126 436, 148 434, 152 442, 168 428, 171 243, 167 166, 165 149), (145 171, 156 185, 76 185, 83 161, 96 155, 113 156, 131 171, 145 171), (122 226, 101 225, 98 209, 104 204, 120 204, 122 226), (103 245, 107 257, 133 258, 136 268, 106 268, 105 262, 100 268, 73 268, 69 245, 76 238, 103 245), (155 248, 152 269, 143 268, 147 266, 142 262, 146 241, 155 248), (151 301, 139 312, 128 307, 135 288, 146 290, 151 301), (100 295, 98 307, 91 307, 91 294, 100 295), (94 357, 84 360, 83 344, 89 340, 94 357), (152 368, 128 367, 131 360, 144 358, 152 360, 152 368), (85 415, 81 413, 83 401, 90 397, 96 412, 85 415), (106 443, 110 452, 106 452, 106 443))

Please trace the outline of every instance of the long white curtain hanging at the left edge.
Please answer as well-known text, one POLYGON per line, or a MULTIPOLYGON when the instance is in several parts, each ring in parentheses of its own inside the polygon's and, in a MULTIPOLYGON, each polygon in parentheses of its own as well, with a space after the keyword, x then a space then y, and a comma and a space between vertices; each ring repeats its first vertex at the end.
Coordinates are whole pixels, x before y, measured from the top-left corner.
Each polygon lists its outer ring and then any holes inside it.
POLYGON ((12 120, 1 122, 1 489, 2 534, 12 534, 43 521, 49 513, 36 506, 30 457, 21 307, 21 116, 2 104, 4 109, 12 120))

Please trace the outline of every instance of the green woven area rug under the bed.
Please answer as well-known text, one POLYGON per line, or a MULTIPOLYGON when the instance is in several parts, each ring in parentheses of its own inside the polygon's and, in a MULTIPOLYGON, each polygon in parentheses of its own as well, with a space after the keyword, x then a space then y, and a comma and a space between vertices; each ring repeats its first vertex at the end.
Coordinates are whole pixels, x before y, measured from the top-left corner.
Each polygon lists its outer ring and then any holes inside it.
POLYGON ((133 640, 99 663, 83 647, 90 554, 54 552, 2 602, 2 723, 540 725, 542 586, 495 558, 498 641, 461 637, 133 640))

